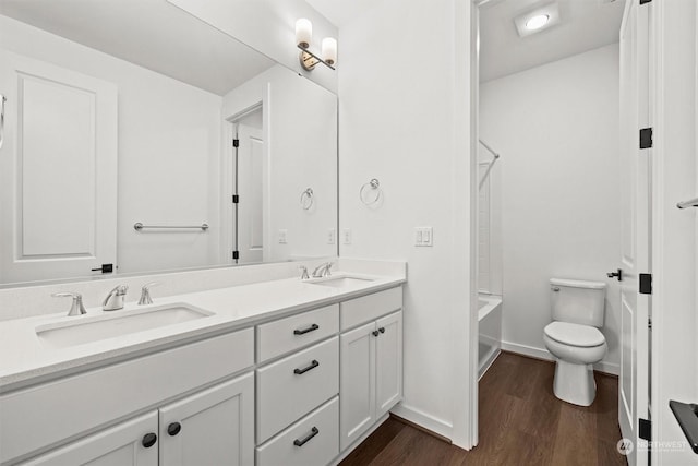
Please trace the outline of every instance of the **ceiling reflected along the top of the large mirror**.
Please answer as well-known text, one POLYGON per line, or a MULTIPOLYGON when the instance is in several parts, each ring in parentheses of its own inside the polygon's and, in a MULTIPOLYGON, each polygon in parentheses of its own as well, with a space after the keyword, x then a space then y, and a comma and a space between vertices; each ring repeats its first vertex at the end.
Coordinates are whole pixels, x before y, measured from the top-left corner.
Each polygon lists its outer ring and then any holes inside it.
POLYGON ((0 14, 217 95, 275 64, 167 0, 0 0, 0 14))

